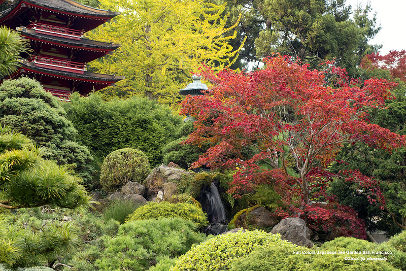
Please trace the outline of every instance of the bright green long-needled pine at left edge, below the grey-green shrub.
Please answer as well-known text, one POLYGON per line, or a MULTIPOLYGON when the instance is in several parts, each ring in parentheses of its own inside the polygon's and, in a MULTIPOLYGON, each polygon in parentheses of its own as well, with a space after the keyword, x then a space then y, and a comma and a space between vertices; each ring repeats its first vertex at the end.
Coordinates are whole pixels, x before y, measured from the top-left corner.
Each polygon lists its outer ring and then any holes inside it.
POLYGON ((0 207, 87 206, 89 196, 80 181, 54 161, 43 159, 41 150, 24 135, 0 127, 0 207))

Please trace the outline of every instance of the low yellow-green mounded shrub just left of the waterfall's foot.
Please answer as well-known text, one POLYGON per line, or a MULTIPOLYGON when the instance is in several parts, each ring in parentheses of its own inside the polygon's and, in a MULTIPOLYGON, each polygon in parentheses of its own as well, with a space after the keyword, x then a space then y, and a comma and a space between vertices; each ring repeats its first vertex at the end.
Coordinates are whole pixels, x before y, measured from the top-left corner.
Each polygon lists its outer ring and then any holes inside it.
POLYGON ((138 208, 134 213, 128 216, 127 221, 136 221, 150 218, 174 218, 179 217, 196 224, 197 228, 207 226, 209 224, 206 214, 194 204, 176 203, 171 204, 167 201, 149 202, 138 208))

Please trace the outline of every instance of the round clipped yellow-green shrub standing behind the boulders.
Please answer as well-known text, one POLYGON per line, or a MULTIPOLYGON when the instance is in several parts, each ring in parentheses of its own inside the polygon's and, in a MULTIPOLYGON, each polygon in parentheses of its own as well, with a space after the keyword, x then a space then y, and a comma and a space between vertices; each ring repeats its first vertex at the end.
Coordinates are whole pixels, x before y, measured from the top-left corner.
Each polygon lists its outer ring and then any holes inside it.
POLYGON ((144 152, 125 148, 106 156, 101 166, 100 184, 107 192, 114 191, 129 181, 142 183, 151 166, 144 152))

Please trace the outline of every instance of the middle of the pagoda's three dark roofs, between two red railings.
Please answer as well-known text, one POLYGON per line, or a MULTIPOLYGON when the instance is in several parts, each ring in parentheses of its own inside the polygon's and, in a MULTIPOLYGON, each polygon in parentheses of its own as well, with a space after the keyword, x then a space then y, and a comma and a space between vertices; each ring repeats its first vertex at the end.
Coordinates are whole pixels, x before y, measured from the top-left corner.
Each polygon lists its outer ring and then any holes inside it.
POLYGON ((51 36, 51 35, 45 35, 41 33, 36 33, 35 29, 29 29, 29 28, 22 28, 20 30, 21 35, 25 36, 29 39, 32 40, 38 40, 42 42, 49 42, 51 44, 55 45, 63 45, 66 47, 73 47, 77 49, 95 49, 98 51, 113 51, 120 47, 120 44, 114 44, 114 43, 109 43, 109 42, 99 42, 99 41, 93 41, 93 40, 88 40, 88 39, 69 39, 69 38, 63 38, 63 37, 57 37, 57 36, 51 36))

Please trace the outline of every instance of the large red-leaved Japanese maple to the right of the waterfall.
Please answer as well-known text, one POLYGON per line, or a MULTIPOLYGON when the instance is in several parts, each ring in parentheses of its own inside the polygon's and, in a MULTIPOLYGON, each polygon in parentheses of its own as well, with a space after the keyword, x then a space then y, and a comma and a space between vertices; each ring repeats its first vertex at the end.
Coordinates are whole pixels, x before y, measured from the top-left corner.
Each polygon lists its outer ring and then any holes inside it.
MULTIPOLYGON (((264 69, 251 73, 203 69, 213 87, 182 103, 181 113, 190 114, 196 127, 185 143, 211 146, 192 167, 235 170, 229 193, 272 184, 286 204, 296 200, 311 211, 315 191, 331 180, 325 169, 343 144, 364 141, 388 150, 404 145, 404 138, 367 119, 369 108, 392 98, 394 83, 370 79, 359 86, 332 63, 318 71, 286 56, 264 61, 264 69)), ((340 178, 373 192, 371 201, 384 201, 375 181, 359 172, 340 178)))

